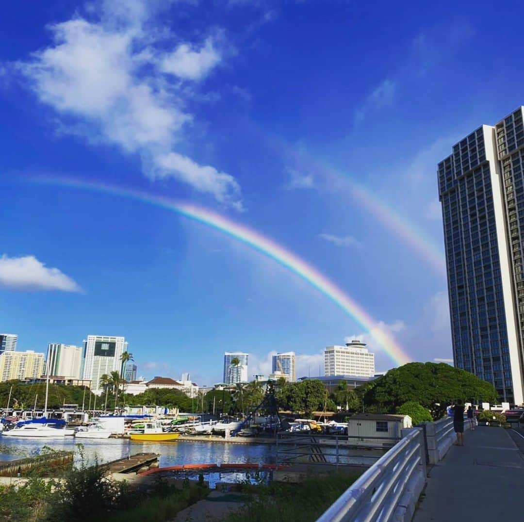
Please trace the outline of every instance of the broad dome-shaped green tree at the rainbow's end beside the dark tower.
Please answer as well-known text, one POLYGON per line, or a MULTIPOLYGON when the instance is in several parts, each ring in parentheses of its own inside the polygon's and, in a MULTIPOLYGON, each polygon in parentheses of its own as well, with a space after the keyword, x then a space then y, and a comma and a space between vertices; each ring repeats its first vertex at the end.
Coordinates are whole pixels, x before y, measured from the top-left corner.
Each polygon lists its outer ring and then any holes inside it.
POLYGON ((453 400, 495 402, 492 384, 472 373, 445 363, 408 363, 357 390, 367 411, 395 413, 399 406, 416 401, 440 419, 453 400))

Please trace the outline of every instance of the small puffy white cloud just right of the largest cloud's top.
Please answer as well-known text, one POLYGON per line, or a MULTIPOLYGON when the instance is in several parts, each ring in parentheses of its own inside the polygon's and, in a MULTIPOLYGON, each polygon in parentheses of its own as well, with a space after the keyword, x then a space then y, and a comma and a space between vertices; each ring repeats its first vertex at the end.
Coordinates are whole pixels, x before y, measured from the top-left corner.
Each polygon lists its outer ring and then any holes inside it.
POLYGON ((163 57, 161 70, 189 80, 200 80, 220 62, 221 56, 211 38, 206 39, 200 50, 181 43, 173 52, 163 57))

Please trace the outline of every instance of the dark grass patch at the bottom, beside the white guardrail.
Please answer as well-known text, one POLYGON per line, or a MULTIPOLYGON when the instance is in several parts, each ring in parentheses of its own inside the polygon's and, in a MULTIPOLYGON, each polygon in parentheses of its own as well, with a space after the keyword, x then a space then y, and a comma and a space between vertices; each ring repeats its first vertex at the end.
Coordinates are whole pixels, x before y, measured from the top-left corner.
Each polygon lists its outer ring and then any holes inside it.
POLYGON ((224 522, 313 522, 355 482, 360 473, 330 473, 312 476, 298 484, 272 482, 258 486, 248 504, 224 522))

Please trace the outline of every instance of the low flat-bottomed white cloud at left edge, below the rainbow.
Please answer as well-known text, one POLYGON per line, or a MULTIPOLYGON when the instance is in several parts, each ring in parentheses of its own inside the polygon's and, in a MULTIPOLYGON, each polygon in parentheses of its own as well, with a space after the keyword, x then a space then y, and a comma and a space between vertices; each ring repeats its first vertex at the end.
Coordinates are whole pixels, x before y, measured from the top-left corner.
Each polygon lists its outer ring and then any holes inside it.
POLYGON ((58 268, 47 268, 35 256, 0 257, 0 286, 13 290, 81 291, 78 284, 58 268))

